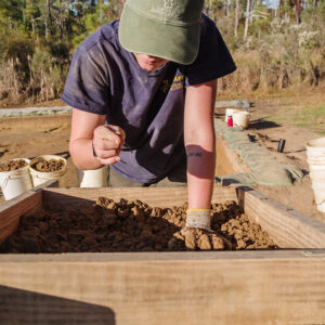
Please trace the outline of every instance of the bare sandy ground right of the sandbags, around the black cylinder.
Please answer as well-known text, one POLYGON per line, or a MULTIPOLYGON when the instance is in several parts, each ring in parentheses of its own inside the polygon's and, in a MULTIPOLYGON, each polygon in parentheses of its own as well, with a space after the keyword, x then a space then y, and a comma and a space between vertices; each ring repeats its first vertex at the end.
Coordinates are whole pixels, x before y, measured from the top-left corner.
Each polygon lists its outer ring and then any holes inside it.
MULTIPOLYGON (((303 100, 307 103, 320 103, 322 101, 325 103, 325 95, 318 94, 315 99, 306 96, 303 100)), ((303 100, 298 98, 297 102, 301 104, 303 100)), ((325 213, 316 209, 314 202, 306 152, 306 143, 308 141, 324 135, 307 128, 297 128, 272 121, 272 116, 281 115, 282 109, 290 106, 286 105, 286 101, 292 102, 292 99, 257 100, 255 107, 251 108, 249 128, 246 132, 251 135, 252 141, 257 141, 262 147, 266 148, 269 154, 275 157, 277 161, 298 166, 303 171, 304 177, 296 181, 294 186, 257 185, 253 188, 270 198, 325 223, 325 213), (283 153, 277 152, 280 139, 286 140, 283 153)), ((299 109, 299 106, 297 107, 296 109, 299 109)), ((317 130, 325 131, 325 123, 317 125, 317 130)))

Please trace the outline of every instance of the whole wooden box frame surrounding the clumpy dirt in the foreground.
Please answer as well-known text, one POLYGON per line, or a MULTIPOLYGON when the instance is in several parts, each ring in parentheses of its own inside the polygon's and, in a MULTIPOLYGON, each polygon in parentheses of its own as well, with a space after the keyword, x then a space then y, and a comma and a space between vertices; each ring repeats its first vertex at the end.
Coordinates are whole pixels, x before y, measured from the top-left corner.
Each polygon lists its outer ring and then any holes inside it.
MULTIPOLYGON (((0 205, 0 238, 23 213, 99 196, 170 206, 186 188, 34 188, 0 205)), ((282 249, 0 255, 0 323, 324 324, 325 224, 249 187, 212 200, 236 200, 282 249)))

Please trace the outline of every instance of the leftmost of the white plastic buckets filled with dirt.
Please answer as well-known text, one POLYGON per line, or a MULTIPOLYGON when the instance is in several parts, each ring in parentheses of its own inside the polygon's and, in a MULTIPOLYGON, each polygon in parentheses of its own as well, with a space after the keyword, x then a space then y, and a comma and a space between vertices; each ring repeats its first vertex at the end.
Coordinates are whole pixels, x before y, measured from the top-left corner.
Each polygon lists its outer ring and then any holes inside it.
POLYGON ((0 187, 6 200, 32 188, 32 182, 29 173, 29 160, 26 158, 16 158, 11 159, 11 161, 22 159, 27 162, 25 167, 0 172, 0 187))

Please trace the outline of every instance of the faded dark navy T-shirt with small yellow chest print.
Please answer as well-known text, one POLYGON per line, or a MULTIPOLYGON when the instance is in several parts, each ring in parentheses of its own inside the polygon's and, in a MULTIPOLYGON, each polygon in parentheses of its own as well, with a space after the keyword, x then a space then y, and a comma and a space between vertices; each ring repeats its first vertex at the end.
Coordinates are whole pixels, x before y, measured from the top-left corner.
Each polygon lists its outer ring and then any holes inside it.
POLYGON ((121 161, 112 168, 131 181, 158 181, 184 162, 186 87, 236 69, 214 23, 203 17, 199 51, 191 65, 167 63, 154 72, 141 68, 119 43, 119 21, 89 36, 74 55, 62 100, 106 115, 106 123, 125 130, 121 161))

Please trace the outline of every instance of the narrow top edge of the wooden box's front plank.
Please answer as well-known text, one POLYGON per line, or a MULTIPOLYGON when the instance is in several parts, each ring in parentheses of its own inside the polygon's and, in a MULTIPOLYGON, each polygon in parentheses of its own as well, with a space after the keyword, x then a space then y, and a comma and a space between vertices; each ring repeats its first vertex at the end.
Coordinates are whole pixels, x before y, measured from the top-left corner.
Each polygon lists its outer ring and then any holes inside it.
POLYGON ((325 249, 226 250, 226 251, 153 251, 153 252, 67 252, 5 253, 0 263, 115 263, 115 262, 181 262, 210 260, 325 260, 325 249))

